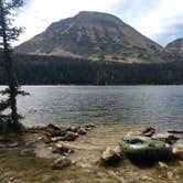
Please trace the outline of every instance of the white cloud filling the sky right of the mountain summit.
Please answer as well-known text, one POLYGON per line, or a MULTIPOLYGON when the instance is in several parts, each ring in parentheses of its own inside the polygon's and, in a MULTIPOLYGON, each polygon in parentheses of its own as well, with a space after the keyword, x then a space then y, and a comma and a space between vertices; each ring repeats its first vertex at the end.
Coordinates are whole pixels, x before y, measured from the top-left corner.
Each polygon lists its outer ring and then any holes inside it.
MULTIPOLYGON (((170 37, 162 40, 161 36, 176 36, 177 25, 183 24, 183 1, 181 0, 133 0, 133 6, 129 9, 123 9, 122 4, 127 1, 121 1, 121 8, 117 11, 118 15, 126 20, 130 25, 136 28, 142 34, 158 41, 161 44, 166 44, 170 37), (123 12, 125 13, 120 13, 123 12)), ((179 34, 180 35, 180 34, 179 34)), ((183 33, 182 33, 183 36, 183 33)))

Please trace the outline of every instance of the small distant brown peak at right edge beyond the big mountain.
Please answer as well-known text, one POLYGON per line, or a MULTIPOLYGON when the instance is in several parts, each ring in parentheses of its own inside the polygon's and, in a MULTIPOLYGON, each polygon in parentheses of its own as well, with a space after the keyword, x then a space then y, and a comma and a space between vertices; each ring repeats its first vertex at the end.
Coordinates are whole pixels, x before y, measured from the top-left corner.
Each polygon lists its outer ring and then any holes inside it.
POLYGON ((166 49, 173 53, 183 54, 183 39, 177 39, 166 45, 166 49))

